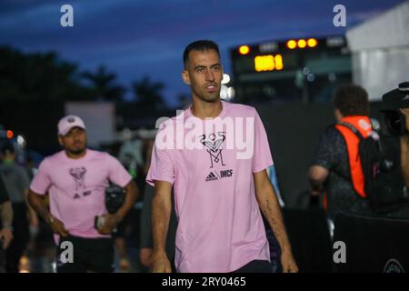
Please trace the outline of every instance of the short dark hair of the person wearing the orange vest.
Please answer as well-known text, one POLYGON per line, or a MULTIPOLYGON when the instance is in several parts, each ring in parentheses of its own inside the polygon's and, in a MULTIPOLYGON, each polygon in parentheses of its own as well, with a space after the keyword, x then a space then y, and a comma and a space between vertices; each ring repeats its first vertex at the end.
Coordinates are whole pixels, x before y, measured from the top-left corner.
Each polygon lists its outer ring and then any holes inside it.
POLYGON ((360 85, 342 85, 334 95, 334 107, 342 115, 369 115, 368 94, 360 85))

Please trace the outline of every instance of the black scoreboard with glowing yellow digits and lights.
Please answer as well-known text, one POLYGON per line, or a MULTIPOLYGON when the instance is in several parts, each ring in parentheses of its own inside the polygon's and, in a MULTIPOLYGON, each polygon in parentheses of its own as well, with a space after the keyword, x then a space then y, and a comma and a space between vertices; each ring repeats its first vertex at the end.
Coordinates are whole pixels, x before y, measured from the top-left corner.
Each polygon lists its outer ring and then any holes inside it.
POLYGON ((239 45, 230 53, 239 102, 328 101, 336 85, 352 78, 344 36, 239 45))

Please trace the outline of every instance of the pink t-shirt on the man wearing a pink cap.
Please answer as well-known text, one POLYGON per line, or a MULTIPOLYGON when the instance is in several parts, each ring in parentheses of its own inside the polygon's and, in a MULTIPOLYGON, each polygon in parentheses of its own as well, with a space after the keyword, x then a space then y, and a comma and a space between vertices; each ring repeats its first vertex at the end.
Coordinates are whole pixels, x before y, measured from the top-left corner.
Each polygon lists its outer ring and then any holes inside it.
POLYGON ((94 227, 95 216, 107 213, 105 186, 108 180, 126 186, 131 179, 124 166, 106 153, 87 149, 84 157, 72 159, 61 151, 45 158, 30 189, 39 195, 48 191, 50 212, 70 235, 109 237, 94 227))

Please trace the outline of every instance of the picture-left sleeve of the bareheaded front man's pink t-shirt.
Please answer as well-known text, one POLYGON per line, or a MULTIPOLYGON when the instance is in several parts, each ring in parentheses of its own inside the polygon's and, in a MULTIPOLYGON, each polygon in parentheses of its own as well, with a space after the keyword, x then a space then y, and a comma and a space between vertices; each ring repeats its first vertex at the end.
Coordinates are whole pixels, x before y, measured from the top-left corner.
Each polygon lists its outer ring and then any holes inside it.
POLYGON ((152 150, 151 166, 146 176, 146 183, 155 186, 155 181, 165 181, 173 185, 175 182, 175 163, 170 152, 172 150, 158 147, 156 145, 157 138, 158 135, 156 135, 152 150))

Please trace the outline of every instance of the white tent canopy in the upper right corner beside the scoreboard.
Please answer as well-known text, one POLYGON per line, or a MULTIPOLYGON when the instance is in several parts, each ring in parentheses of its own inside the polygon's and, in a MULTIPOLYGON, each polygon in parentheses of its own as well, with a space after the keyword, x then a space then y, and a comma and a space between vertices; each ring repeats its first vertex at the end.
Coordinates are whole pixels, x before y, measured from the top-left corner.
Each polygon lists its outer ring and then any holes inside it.
POLYGON ((354 83, 370 100, 409 81, 409 1, 346 32, 353 53, 354 83))

